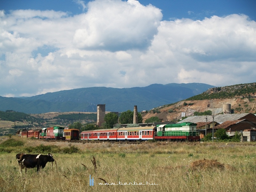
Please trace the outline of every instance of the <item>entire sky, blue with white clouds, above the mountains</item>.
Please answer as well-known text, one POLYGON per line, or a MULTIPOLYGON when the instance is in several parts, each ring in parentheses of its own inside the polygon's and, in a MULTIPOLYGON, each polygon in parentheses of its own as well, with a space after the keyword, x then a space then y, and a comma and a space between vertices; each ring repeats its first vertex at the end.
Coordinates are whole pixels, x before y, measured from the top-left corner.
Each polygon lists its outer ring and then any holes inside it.
POLYGON ((0 96, 256 82, 254 0, 2 0, 0 96))

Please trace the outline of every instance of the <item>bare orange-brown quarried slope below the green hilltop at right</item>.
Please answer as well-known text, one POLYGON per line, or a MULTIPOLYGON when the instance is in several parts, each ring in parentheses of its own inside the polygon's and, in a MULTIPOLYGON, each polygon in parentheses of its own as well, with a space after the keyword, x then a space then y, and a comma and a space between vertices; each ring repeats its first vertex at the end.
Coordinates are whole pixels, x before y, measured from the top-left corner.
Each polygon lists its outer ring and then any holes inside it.
POLYGON ((231 110, 234 113, 255 113, 255 99, 248 98, 231 98, 231 99, 213 99, 213 100, 186 100, 174 104, 162 106, 142 114, 144 120, 157 116, 163 118, 163 121, 177 121, 181 119, 181 113, 185 112, 186 116, 192 116, 194 112, 212 111, 212 114, 221 114, 223 104, 231 104, 231 110))

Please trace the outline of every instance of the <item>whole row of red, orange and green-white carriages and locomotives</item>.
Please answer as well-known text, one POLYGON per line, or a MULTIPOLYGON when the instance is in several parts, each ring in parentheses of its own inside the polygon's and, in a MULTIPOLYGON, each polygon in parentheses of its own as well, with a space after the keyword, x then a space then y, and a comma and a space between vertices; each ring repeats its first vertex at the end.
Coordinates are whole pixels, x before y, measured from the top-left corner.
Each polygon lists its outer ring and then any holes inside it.
POLYGON ((195 123, 159 124, 146 127, 124 127, 82 131, 64 129, 64 127, 47 127, 42 130, 20 130, 20 137, 34 137, 47 140, 171 140, 198 141, 199 132, 195 123))

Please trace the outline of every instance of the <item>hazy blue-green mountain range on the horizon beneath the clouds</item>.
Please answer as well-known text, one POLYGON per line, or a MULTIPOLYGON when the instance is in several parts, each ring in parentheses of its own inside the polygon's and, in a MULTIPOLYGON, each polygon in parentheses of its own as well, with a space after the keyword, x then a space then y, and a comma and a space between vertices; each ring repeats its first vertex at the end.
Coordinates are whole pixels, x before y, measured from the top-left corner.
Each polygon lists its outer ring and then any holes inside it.
POLYGON ((47 112, 96 112, 98 104, 106 111, 150 110, 198 95, 214 86, 202 83, 151 84, 146 87, 89 87, 49 92, 32 97, 1 97, 0 111, 14 110, 27 114, 47 112))

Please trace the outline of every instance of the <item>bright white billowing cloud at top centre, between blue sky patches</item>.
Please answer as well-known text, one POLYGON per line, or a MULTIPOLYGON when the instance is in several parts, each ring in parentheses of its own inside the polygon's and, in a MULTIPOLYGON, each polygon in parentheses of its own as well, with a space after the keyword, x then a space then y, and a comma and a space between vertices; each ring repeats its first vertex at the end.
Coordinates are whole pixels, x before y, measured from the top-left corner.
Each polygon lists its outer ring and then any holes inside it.
POLYGON ((162 16, 156 7, 145 7, 135 0, 89 2, 73 43, 87 50, 145 49, 156 35, 162 16))

